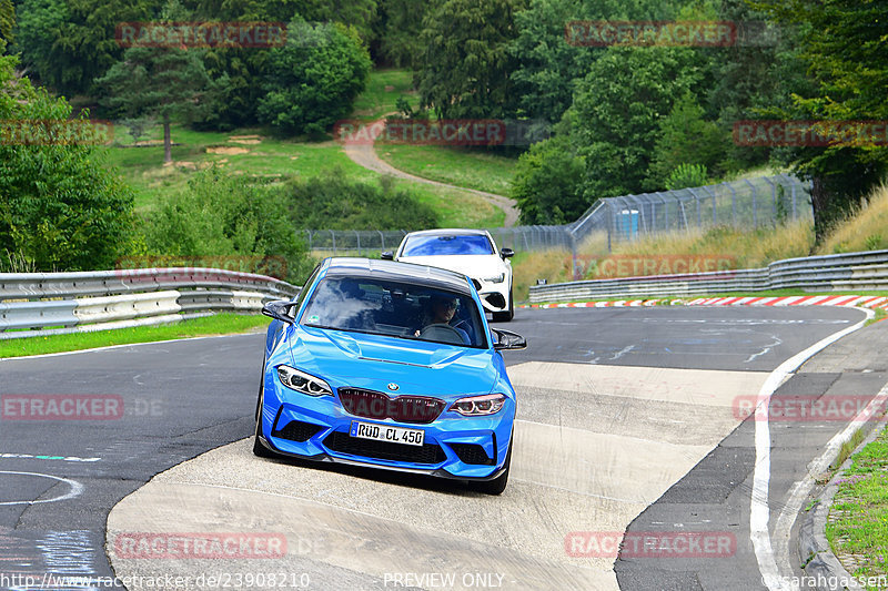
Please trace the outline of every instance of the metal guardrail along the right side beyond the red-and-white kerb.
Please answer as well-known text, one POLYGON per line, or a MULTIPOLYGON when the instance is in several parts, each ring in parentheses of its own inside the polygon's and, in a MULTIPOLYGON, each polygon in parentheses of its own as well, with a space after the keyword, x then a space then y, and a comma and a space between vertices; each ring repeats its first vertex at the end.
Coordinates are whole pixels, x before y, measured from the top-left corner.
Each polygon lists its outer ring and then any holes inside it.
POLYGON ((531 302, 658 297, 800 288, 888 291, 888 251, 776 261, 763 268, 623 277, 531 286, 531 302))

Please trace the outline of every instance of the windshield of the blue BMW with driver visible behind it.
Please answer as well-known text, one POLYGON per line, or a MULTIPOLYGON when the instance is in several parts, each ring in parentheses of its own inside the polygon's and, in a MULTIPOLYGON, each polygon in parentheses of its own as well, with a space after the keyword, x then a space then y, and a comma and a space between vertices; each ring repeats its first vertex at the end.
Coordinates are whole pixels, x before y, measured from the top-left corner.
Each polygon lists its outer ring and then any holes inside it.
POLYGON ((303 326, 486 348, 475 300, 405 282, 325 277, 302 315, 303 326))

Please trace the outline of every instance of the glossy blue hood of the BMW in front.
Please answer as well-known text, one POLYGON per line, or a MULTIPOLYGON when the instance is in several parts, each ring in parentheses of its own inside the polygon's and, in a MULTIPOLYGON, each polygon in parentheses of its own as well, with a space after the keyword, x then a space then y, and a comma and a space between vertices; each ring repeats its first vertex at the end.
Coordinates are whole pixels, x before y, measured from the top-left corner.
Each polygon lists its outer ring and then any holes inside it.
POLYGON ((488 394, 498 380, 488 349, 297 326, 290 343, 296 368, 334 388, 456 398, 488 394), (392 391, 390 384, 397 384, 392 391))

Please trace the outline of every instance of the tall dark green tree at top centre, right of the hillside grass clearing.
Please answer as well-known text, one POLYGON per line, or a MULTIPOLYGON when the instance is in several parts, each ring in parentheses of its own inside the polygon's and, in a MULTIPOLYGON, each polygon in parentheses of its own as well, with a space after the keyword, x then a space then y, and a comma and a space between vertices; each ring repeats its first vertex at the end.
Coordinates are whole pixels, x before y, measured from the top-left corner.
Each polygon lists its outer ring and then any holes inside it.
POLYGON ((415 83, 442 119, 505 119, 517 111, 509 74, 514 16, 525 0, 446 0, 424 21, 415 83))

